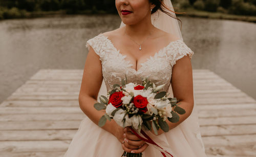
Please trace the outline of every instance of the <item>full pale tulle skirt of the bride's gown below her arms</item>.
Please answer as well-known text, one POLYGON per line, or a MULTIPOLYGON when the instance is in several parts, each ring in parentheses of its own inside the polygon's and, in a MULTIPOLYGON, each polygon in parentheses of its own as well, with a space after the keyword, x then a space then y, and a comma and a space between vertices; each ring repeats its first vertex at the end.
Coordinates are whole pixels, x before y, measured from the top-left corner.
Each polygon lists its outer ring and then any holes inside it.
MULTIPOLYGON (((159 136, 154 136, 151 132, 146 133, 173 156, 207 156, 201 138, 196 104, 191 115, 175 128, 159 136)), ((81 121, 64 157, 120 157, 122 153, 123 149, 117 138, 86 117, 81 121)), ((142 156, 160 157, 163 155, 154 146, 149 145, 142 152, 142 156)))

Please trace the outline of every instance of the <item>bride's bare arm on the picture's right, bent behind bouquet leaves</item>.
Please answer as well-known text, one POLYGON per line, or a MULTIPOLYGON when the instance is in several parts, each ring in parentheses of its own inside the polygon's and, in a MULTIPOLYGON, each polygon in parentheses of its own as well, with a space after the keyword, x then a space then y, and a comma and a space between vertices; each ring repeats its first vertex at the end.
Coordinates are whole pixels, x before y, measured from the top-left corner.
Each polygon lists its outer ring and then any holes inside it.
MULTIPOLYGON (((178 126, 181 122, 187 119, 194 107, 194 93, 193 93, 193 75, 192 65, 188 56, 176 61, 172 72, 172 88, 174 97, 180 99, 179 106, 185 109, 184 115, 179 115, 180 120, 177 123, 172 123, 166 120, 169 130, 178 126)), ((153 129, 152 129, 153 130, 153 129)), ((152 131, 154 133, 154 131, 152 131)), ((158 130, 158 135, 163 133, 162 129, 158 130)))

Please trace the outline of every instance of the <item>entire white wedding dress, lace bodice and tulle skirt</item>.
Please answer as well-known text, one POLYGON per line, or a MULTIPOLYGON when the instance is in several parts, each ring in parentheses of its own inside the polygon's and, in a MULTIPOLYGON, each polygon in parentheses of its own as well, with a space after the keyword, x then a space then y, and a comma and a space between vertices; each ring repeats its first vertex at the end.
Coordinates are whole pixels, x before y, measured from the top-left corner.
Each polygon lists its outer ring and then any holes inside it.
MULTIPOLYGON (((170 97, 173 96, 170 85, 173 65, 185 55, 188 55, 191 59, 194 54, 183 40, 171 41, 153 57, 142 63, 141 68, 136 71, 131 68, 130 61, 125 60, 126 56, 122 55, 114 47, 111 40, 102 33, 89 39, 86 46, 88 49, 93 48, 100 57, 104 83, 108 91, 113 84, 121 84, 121 79, 126 74, 128 83, 140 83, 140 77, 149 77, 151 82, 155 82, 156 85, 165 83, 164 90, 170 93, 170 97)), ((151 136, 151 138, 156 143, 165 146, 165 149, 175 157, 207 156, 201 138, 196 103, 191 115, 185 121, 168 132, 155 137, 151 136)), ((123 149, 117 138, 86 117, 81 121, 78 131, 64 156, 120 157, 122 153, 123 149)), ((160 157, 163 155, 150 145, 142 152, 142 156, 160 157)))

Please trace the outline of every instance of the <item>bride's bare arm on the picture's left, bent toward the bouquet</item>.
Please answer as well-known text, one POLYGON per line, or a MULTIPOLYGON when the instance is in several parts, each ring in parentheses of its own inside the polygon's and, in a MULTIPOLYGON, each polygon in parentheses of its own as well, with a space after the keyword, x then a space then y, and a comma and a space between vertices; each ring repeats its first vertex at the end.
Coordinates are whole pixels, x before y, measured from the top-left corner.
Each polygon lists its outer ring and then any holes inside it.
MULTIPOLYGON (((83 70, 79 93, 79 106, 83 113, 97 125, 99 119, 105 113, 105 110, 96 110, 94 108, 94 103, 97 101, 102 79, 101 61, 93 48, 90 47, 83 70)), ((106 121, 102 128, 116 136, 116 129, 113 129, 117 127, 116 125, 117 124, 113 120, 106 121)))

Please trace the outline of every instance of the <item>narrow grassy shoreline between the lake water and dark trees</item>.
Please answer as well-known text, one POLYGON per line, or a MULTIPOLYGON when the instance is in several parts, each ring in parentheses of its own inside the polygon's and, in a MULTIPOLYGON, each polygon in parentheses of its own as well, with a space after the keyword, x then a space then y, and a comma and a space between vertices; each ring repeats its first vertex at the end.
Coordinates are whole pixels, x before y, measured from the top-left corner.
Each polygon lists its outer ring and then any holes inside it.
MULTIPOLYGON (((188 16, 188 17, 203 17, 203 18, 210 18, 210 19, 231 19, 231 20, 240 20, 240 21, 247 21, 250 23, 256 23, 256 16, 248 16, 248 15, 232 15, 232 14, 226 14, 226 13, 220 13, 220 12, 207 12, 207 11, 201 11, 196 10, 193 8, 187 8, 182 9, 176 12, 185 12, 185 14, 176 14, 179 16, 188 16)), ((35 12, 25 12, 21 16, 15 15, 11 18, 6 19, 17 19, 17 18, 36 18, 36 17, 52 17, 52 16, 62 16, 62 15, 74 15, 74 14, 106 14, 104 11, 91 11, 91 10, 84 10, 84 11, 78 11, 76 13, 72 13, 67 10, 58 10, 58 11, 35 11, 35 12)), ((110 13, 108 13, 110 14, 110 13)), ((0 18, 1 20, 5 20, 0 18)))

